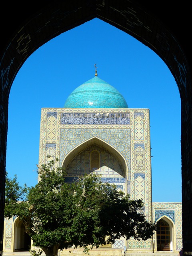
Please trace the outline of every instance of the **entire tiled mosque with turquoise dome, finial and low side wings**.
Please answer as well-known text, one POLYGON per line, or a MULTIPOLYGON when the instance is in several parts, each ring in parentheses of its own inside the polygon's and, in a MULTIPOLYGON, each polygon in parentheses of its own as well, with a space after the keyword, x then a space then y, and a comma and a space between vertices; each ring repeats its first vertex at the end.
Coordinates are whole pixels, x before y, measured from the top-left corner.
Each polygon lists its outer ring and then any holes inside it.
MULTIPOLYGON (((66 182, 85 173, 102 175, 103 182, 142 199, 149 221, 157 230, 151 239, 121 238, 110 248, 130 252, 173 251, 182 248, 182 203, 152 202, 150 111, 128 108, 113 86, 97 75, 78 86, 63 108, 42 108, 39 165, 47 156, 59 158, 66 182)), ((49 158, 50 160, 50 158, 49 158)), ((16 217, 5 219, 4 251, 25 248, 24 225, 16 217)))

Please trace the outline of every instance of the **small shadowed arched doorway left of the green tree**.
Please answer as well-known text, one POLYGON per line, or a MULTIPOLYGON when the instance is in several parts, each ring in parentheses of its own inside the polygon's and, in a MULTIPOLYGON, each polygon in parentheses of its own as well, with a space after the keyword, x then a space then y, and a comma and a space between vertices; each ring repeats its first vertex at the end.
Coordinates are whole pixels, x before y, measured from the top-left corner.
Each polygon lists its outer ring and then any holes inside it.
POLYGON ((25 226, 19 218, 14 222, 14 246, 13 251, 28 251, 31 246, 31 238, 25 232, 25 226))

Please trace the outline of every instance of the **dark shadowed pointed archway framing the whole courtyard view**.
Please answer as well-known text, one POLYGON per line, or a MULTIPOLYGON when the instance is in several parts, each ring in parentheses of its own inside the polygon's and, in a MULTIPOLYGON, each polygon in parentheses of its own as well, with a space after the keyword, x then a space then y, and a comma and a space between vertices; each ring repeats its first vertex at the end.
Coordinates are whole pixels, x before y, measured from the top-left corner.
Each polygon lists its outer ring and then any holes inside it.
MULTIPOLYGON (((8 96, 25 60, 40 46, 93 18, 134 36, 166 63, 181 97, 184 255, 192 253, 192 82, 190 4, 142 0, 47 0, 1 3, 0 47, 0 241, 3 240, 8 96), (186 252, 186 253, 185 253, 186 252), (191 253, 190 253, 191 252, 191 253)), ((0 243, 2 251, 2 243, 0 243)))

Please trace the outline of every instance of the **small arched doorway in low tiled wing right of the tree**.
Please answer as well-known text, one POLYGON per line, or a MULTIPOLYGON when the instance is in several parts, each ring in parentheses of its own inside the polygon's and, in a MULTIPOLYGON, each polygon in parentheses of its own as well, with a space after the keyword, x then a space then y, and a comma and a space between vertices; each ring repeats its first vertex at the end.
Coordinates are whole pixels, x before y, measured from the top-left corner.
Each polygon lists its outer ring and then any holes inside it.
POLYGON ((157 251, 172 251, 173 249, 173 227, 172 223, 166 219, 161 218, 157 222, 156 228, 156 244, 157 251))

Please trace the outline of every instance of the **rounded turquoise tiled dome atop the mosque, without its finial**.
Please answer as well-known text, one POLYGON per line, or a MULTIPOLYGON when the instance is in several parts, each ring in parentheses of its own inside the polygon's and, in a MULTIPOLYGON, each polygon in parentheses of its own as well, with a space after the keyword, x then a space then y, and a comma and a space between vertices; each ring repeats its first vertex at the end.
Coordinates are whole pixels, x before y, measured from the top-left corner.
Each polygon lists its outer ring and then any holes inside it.
POLYGON ((118 90, 95 76, 68 96, 64 108, 128 108, 128 105, 118 90))

